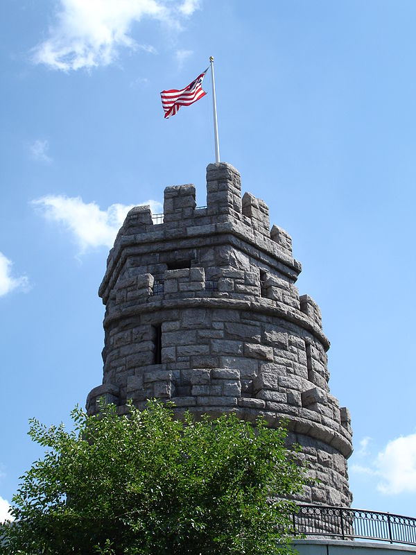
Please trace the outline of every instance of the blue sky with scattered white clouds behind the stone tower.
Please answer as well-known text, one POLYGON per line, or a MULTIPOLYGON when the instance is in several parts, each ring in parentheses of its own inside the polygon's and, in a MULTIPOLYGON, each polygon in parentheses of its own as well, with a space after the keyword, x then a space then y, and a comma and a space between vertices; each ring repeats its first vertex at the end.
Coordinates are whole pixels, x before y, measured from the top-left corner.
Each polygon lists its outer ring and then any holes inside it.
POLYGON ((0 518, 102 379, 97 289, 128 207, 214 160, 207 96, 159 92, 215 58, 221 160, 270 206, 322 309, 352 413, 354 506, 415 515, 416 4, 404 0, 3 0, 0 518), (2 512, 3 511, 3 512, 2 512))

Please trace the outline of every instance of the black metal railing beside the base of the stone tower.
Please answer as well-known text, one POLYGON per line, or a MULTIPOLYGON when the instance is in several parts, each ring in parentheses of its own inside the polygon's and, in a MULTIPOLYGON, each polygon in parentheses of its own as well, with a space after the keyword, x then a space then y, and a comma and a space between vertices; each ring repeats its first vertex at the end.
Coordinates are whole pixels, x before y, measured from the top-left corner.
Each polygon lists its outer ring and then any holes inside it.
POLYGON ((293 513, 293 527, 305 536, 330 536, 342 540, 354 538, 416 545, 416 518, 391 513, 300 505, 293 513))

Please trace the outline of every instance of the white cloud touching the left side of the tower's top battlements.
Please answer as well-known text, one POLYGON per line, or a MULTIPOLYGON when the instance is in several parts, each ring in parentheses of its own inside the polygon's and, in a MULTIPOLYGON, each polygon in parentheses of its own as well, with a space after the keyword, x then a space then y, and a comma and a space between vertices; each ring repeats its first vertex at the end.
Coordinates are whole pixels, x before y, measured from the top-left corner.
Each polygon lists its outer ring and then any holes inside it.
MULTIPOLYGON (((33 200, 32 203, 46 219, 59 223, 73 235, 81 253, 88 248, 112 247, 127 212, 135 205, 112 204, 101 210, 96 203, 84 203, 78 197, 49 195, 33 200)), ((162 212, 157 200, 147 200, 153 214, 162 212)))

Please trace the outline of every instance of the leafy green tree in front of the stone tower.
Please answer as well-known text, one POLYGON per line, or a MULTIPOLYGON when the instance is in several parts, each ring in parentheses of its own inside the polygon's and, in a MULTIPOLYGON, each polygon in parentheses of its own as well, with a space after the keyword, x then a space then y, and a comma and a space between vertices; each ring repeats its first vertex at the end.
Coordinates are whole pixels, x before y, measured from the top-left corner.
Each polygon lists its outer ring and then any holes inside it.
POLYGON ((4 524, 3 553, 26 555, 272 555, 290 551, 286 497, 306 469, 285 427, 233 415, 196 421, 149 402, 117 416, 71 413, 72 432, 31 420, 47 448, 21 477, 4 524))

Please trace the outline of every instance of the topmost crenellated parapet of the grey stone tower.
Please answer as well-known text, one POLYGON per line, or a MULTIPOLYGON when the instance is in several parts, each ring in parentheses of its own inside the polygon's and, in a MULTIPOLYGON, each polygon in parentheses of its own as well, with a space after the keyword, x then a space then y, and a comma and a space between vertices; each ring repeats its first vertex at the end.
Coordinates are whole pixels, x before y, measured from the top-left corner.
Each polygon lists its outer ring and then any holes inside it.
MULTIPOLYGON (((291 282, 297 280, 302 266, 293 258, 290 235, 276 225, 270 231, 266 203, 250 193, 241 198, 239 172, 231 164, 220 162, 207 167, 206 207, 196 206, 194 185, 178 185, 164 190, 163 222, 159 223, 159 219, 157 223, 153 221, 150 206, 137 206, 128 212, 114 241, 114 248, 110 250, 107 273, 99 294, 107 302, 114 285, 110 283, 111 278, 114 278, 114 271, 125 250, 144 244, 157 247, 160 241, 170 241, 172 248, 179 240, 182 241, 180 246, 185 240, 189 245, 196 245, 198 239, 201 243, 212 235, 219 238, 225 234, 232 234, 243 241, 247 252, 252 247, 256 248, 259 259, 275 266, 291 282)), ((189 255, 181 250, 186 259, 189 255)), ((191 265, 200 264, 191 256, 191 265)), ((220 261, 217 265, 223 264, 220 261)))

